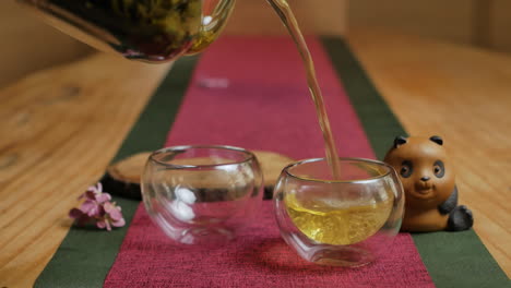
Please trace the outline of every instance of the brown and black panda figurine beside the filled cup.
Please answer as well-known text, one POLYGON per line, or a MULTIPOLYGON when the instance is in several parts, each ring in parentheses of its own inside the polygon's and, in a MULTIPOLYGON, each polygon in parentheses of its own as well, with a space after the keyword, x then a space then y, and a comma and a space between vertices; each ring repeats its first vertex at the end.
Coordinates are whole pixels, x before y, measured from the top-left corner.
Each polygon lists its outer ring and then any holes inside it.
POLYGON ((454 170, 440 136, 399 136, 384 161, 397 171, 405 191, 403 231, 462 231, 472 227, 472 212, 457 205, 454 170))

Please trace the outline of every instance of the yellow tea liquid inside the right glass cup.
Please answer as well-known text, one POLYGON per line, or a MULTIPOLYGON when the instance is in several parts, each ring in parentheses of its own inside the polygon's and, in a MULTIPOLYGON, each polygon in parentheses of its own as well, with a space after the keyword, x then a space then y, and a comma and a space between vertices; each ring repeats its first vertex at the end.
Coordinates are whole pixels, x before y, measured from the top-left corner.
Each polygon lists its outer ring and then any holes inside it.
POLYGON ((308 238, 324 244, 346 245, 373 236, 390 216, 394 197, 379 203, 326 203, 319 200, 297 201, 294 194, 285 205, 295 226, 308 238))

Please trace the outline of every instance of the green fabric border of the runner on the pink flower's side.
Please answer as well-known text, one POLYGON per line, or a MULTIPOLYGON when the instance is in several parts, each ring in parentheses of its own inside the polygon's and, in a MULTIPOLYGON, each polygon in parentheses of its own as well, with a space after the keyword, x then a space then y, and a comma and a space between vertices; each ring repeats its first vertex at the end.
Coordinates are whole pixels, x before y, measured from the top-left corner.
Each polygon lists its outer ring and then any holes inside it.
MULTIPOLYGON (((197 61, 198 57, 186 57, 174 64, 122 143, 114 161, 138 152, 163 147, 197 61)), ((115 201, 122 207, 127 225, 110 232, 96 228, 72 227, 37 278, 35 287, 103 286, 140 203, 122 197, 115 197, 115 201)))

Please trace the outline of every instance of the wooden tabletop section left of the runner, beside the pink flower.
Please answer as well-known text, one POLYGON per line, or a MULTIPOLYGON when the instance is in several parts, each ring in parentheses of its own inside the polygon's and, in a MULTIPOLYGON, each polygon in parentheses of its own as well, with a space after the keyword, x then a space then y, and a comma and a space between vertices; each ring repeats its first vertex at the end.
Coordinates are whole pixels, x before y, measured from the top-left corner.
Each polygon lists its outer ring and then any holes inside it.
POLYGON ((0 287, 34 283, 167 69, 96 55, 0 91, 0 287))

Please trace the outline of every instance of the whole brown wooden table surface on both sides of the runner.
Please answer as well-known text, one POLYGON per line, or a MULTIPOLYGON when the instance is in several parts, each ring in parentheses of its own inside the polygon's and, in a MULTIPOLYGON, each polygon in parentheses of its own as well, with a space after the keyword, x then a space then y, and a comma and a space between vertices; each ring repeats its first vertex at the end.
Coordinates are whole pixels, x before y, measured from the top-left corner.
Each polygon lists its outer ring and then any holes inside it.
MULTIPOLYGON (((511 57, 367 29, 348 41, 411 134, 456 147, 460 202, 510 276, 511 57)), ((0 91, 0 287, 34 283, 168 69, 95 55, 0 91)))

